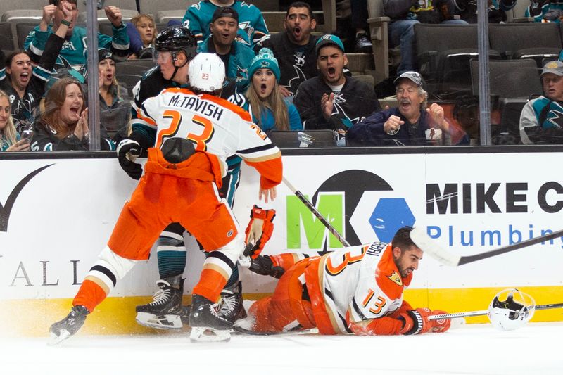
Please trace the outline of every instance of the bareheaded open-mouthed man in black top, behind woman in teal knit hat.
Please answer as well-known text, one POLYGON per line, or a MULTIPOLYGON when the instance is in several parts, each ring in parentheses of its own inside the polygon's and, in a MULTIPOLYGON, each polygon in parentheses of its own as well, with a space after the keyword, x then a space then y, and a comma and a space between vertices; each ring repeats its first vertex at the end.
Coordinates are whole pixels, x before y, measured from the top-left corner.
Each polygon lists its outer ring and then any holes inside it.
POLYGON ((305 1, 291 3, 284 20, 286 32, 278 32, 259 43, 271 49, 279 63, 279 89, 284 96, 293 96, 301 82, 317 75, 315 44, 311 35, 317 21, 305 1))

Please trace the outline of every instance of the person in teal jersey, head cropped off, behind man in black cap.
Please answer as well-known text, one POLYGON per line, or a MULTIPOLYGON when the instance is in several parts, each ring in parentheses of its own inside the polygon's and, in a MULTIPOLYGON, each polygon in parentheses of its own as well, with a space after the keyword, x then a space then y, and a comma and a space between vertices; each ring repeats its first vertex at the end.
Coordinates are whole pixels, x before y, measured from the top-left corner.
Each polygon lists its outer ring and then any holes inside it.
POLYGON ((268 28, 260 9, 252 4, 239 0, 205 0, 193 4, 186 9, 182 18, 182 25, 189 28, 198 44, 201 44, 211 34, 209 25, 213 23, 213 14, 217 8, 229 6, 239 15, 237 34, 239 42, 253 47, 260 39, 269 35, 268 28))

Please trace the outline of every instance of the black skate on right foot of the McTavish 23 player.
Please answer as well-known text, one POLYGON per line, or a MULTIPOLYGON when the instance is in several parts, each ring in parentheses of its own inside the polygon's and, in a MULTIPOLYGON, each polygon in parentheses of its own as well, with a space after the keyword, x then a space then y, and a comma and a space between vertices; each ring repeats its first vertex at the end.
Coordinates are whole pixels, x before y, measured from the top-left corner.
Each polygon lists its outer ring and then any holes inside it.
POLYGON ((194 294, 191 298, 189 325, 189 338, 192 342, 231 339, 232 322, 217 314, 217 304, 201 295, 194 294))

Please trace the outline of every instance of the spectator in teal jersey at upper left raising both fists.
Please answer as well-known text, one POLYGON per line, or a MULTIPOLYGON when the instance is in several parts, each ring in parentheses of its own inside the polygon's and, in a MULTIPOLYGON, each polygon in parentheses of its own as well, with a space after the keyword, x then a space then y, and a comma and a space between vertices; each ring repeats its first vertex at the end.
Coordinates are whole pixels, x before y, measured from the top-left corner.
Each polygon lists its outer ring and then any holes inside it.
MULTIPOLYGON (((74 68, 85 76, 86 68, 86 29, 75 26, 78 11, 77 0, 49 0, 49 5, 43 8, 41 23, 27 34, 24 49, 26 49, 37 63, 45 50, 45 43, 50 34, 53 34, 62 25, 68 26, 66 41, 59 53, 55 68, 74 68), (72 18, 67 20, 63 13, 64 4, 72 7, 72 18), (53 21, 53 25, 49 25, 53 21)), ((113 25, 113 38, 98 33, 98 46, 100 48, 113 49, 120 56, 127 56, 129 50, 129 37, 125 25, 121 22, 121 11, 117 6, 106 6, 106 16, 113 25)))

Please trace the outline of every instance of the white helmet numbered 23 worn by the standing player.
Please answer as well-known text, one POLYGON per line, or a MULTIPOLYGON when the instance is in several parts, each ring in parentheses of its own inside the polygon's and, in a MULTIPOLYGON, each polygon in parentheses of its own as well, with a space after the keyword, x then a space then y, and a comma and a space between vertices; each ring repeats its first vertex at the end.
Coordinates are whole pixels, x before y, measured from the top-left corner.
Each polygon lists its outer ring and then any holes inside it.
POLYGON ((213 93, 223 87, 224 63, 215 53, 198 53, 189 62, 188 78, 195 91, 213 93))

